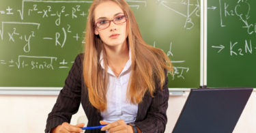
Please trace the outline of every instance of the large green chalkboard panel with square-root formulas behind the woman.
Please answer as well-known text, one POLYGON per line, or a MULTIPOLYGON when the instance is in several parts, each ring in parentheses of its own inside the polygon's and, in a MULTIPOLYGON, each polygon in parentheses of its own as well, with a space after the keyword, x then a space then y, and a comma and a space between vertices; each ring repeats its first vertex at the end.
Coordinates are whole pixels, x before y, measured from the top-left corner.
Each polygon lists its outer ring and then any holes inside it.
MULTIPOLYGON (((143 39, 170 57, 170 88, 200 84, 200 5, 197 0, 129 1, 143 39)), ((63 87, 83 52, 92 1, 1 1, 0 87, 63 87)))

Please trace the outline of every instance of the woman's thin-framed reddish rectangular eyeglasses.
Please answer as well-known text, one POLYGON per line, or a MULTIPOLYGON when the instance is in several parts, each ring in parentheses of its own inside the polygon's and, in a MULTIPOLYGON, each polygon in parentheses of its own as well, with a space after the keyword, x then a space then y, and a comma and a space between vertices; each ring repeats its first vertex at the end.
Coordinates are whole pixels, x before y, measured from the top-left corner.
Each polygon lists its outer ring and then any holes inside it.
POLYGON ((98 27, 98 29, 106 29, 109 27, 111 21, 113 21, 113 23, 115 25, 120 25, 122 23, 125 23, 127 20, 127 16, 117 16, 112 20, 100 20, 100 22, 95 23, 95 26, 98 27))

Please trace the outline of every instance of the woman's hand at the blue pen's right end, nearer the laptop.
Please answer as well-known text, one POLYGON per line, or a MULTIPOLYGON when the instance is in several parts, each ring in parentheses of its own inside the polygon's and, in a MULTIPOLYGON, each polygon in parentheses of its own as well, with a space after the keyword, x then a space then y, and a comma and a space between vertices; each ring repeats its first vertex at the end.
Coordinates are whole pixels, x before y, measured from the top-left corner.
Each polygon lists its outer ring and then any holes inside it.
POLYGON ((105 125, 101 128, 102 131, 107 130, 109 133, 133 133, 132 125, 127 125, 124 120, 119 119, 113 123, 107 123, 106 121, 100 121, 101 125, 105 125))

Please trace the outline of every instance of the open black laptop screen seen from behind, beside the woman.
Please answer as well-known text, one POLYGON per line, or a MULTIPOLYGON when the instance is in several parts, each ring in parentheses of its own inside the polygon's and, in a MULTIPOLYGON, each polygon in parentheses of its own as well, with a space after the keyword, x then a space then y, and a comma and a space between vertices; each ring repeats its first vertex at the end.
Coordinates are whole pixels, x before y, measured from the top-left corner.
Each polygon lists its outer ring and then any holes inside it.
POLYGON ((231 133, 253 88, 191 89, 173 133, 231 133))

